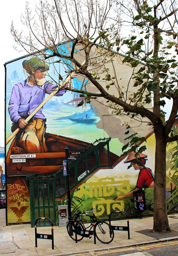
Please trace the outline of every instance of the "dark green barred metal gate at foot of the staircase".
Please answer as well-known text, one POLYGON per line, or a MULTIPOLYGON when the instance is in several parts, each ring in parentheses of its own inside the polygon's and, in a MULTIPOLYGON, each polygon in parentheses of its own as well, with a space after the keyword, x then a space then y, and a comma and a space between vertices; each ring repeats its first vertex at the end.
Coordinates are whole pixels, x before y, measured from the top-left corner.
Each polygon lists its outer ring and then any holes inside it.
MULTIPOLYGON (((30 215, 31 226, 37 218, 49 218, 56 225, 55 191, 53 180, 30 180, 30 215)), ((39 221, 40 226, 50 226, 48 220, 39 221)))

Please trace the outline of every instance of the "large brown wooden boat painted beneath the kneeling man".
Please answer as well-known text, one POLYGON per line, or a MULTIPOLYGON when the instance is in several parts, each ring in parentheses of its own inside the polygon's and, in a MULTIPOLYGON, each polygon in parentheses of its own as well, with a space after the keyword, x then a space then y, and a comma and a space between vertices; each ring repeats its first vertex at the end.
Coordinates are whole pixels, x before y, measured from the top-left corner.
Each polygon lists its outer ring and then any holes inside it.
MULTIPOLYGON (((16 138, 13 139, 6 157, 7 175, 13 174, 42 174, 56 173, 63 167, 62 161, 65 157, 65 147, 69 152, 80 152, 90 145, 88 142, 69 138, 56 134, 45 134, 48 151, 45 153, 19 153, 14 154, 12 147, 16 147, 16 138), (24 161, 22 161, 24 160, 24 161)), ((94 146, 91 146, 92 148, 94 146)), ((104 149, 105 157, 107 150, 104 149)), ((110 152, 110 160, 115 162, 118 156, 110 152)))

